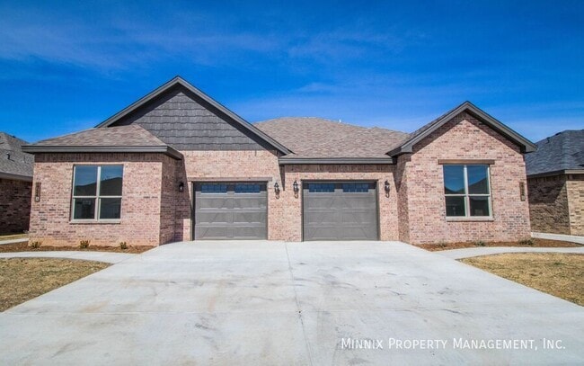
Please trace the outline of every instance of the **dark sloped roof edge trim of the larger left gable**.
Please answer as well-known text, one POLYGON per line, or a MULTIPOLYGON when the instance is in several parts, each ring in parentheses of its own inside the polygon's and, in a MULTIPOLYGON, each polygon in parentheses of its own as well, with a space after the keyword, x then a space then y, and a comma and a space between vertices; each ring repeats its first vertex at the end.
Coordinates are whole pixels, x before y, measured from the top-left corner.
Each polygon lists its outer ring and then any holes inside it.
POLYGON ((238 124, 239 126, 243 127, 243 129, 249 130, 250 132, 252 132, 252 134, 256 135, 258 138, 261 138, 261 140, 267 142, 270 146, 275 147, 280 153, 289 154, 291 152, 288 149, 288 147, 285 147, 279 141, 266 135, 260 129, 257 129, 256 127, 254 127, 250 122, 243 120, 243 118, 241 118, 240 116, 238 116, 237 114, 235 114, 234 112, 232 112, 231 110, 226 108, 226 106, 224 106, 223 104, 218 103, 216 100, 214 100, 213 98, 211 98, 207 94, 203 93, 201 90, 199 90, 195 86, 191 85, 189 82, 184 80, 181 76, 173 77, 173 79, 169 80, 167 83, 164 83, 164 85, 159 86, 153 92, 146 94, 145 96, 143 96, 142 98, 137 100, 137 102, 130 104, 127 108, 114 114, 109 119, 107 119, 106 121, 103 121, 102 123, 98 124, 95 127, 96 128, 104 128, 104 127, 111 126, 116 121, 119 121, 120 119, 124 118, 125 116, 127 116, 131 112, 136 111, 141 106, 152 101, 158 95, 163 94, 164 92, 168 91, 169 89, 173 88, 176 85, 181 85, 181 86, 185 87, 186 89, 188 89, 191 93, 196 94, 197 96, 199 96, 199 98, 201 98, 202 100, 204 100, 205 102, 210 104, 212 107, 216 108, 219 112, 222 112, 223 114, 225 114, 228 119, 230 119, 234 123, 238 124))

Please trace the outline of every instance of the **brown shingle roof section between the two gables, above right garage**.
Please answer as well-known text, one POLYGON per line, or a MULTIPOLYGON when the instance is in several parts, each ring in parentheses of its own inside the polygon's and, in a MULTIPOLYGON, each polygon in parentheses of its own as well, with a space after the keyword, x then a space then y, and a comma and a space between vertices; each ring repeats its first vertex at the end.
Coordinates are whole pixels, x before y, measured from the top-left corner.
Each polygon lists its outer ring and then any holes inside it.
MULTIPOLYGON (((315 117, 283 117, 254 124, 292 149, 289 159, 381 159, 391 161, 388 150, 396 147, 408 134, 391 129, 365 128, 315 117)), ((371 160, 370 160, 371 161, 371 160)), ((371 161, 375 162, 375 161, 371 161)))

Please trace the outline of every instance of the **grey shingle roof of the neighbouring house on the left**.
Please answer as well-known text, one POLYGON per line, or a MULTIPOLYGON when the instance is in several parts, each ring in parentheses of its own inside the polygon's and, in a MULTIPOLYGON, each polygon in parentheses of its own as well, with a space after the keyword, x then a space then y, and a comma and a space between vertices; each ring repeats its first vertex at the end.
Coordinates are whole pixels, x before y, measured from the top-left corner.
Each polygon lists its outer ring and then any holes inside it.
POLYGON ((27 142, 0 132, 0 178, 31 181, 34 156, 22 152, 27 142))

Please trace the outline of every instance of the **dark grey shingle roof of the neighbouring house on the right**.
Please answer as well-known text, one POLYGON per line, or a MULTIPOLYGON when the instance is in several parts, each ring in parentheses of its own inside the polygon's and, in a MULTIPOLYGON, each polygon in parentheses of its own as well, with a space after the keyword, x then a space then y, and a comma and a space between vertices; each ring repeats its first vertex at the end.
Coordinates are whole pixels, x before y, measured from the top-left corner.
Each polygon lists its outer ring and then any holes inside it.
POLYGON ((565 130, 538 141, 526 155, 527 175, 584 172, 584 129, 565 130))

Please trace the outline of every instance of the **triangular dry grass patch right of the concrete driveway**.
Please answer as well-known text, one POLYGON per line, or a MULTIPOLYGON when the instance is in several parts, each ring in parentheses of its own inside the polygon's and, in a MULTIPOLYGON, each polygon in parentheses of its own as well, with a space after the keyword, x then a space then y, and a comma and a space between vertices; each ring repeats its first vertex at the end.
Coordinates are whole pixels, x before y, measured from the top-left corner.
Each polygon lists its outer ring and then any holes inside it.
POLYGON ((460 261, 584 306, 584 254, 508 253, 460 261))

